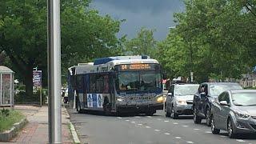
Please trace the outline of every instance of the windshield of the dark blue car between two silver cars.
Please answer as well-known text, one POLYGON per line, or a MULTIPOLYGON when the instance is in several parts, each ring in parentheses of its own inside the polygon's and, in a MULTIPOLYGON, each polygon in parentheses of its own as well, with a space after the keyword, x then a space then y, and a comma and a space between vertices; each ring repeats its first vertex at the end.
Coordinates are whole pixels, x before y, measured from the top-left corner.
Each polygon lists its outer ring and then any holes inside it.
POLYGON ((221 94, 223 91, 226 91, 226 90, 240 90, 240 89, 242 89, 242 86, 238 84, 210 85, 210 95, 218 96, 219 94, 221 94))

